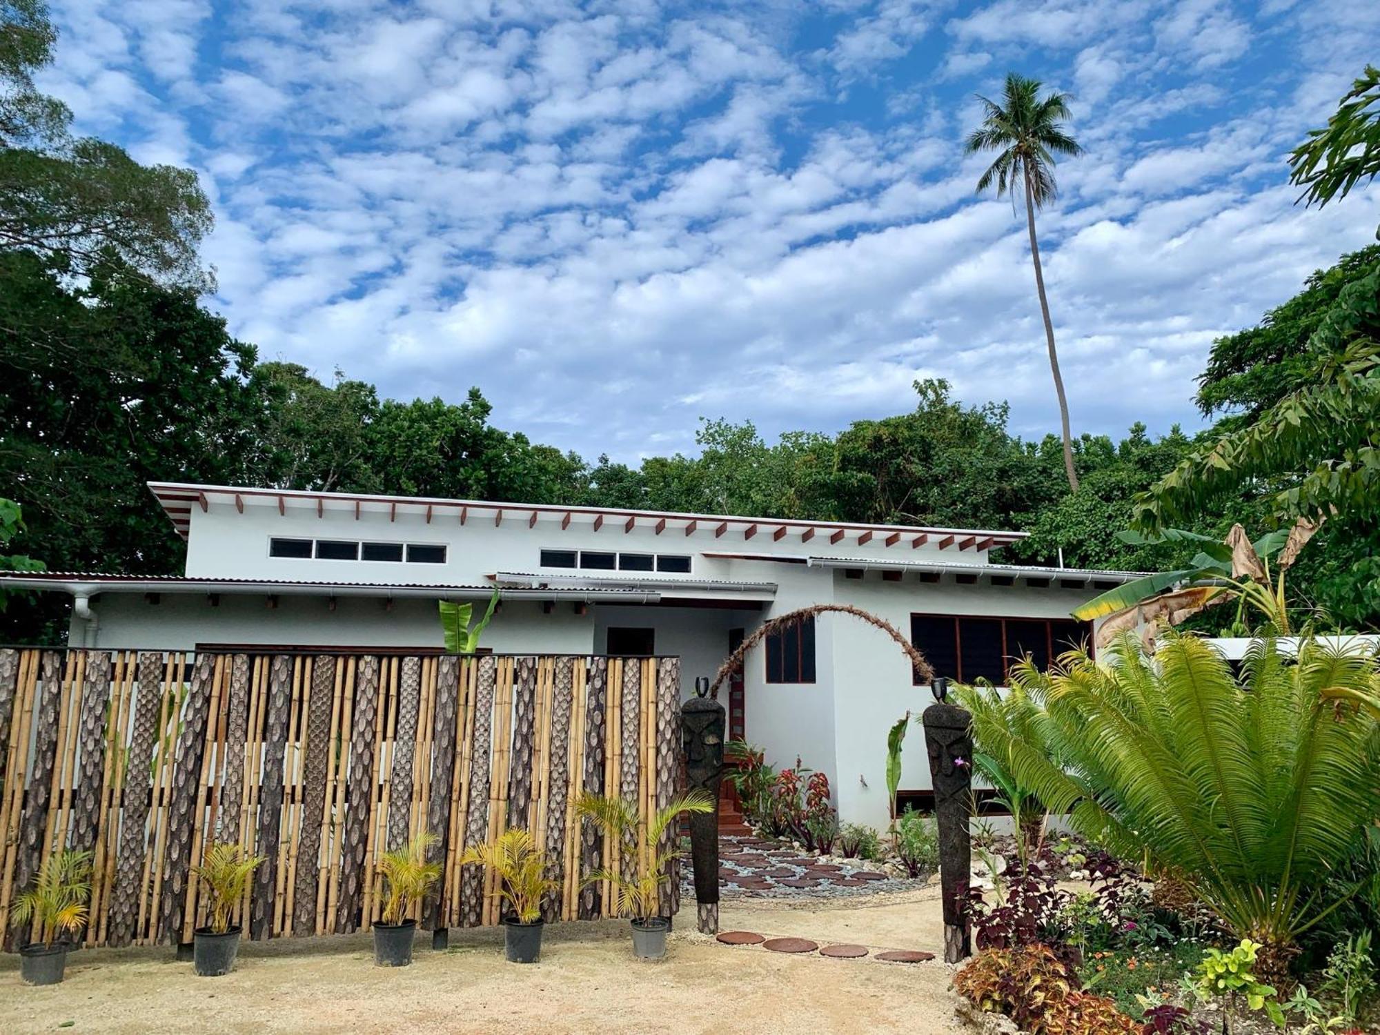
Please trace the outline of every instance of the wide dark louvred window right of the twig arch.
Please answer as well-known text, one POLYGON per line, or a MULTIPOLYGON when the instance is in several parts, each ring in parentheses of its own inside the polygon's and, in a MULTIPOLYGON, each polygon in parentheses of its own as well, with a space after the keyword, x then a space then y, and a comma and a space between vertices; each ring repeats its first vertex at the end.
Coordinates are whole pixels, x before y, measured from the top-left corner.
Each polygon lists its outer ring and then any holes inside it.
POLYGON ((936 675, 960 683, 988 679, 1002 686, 1010 680, 1012 665, 1027 654, 1045 669, 1065 650, 1089 640, 1089 624, 1070 618, 911 615, 911 643, 929 658, 936 675))

